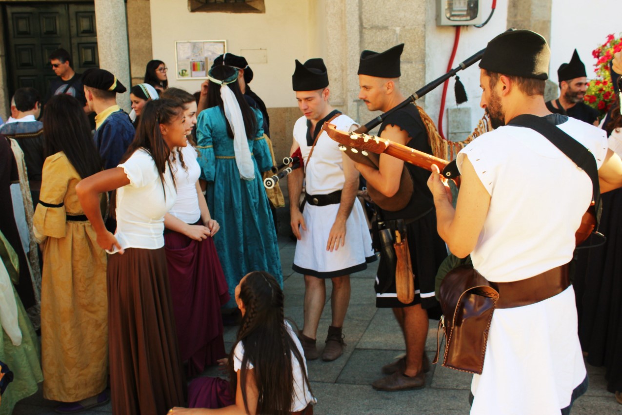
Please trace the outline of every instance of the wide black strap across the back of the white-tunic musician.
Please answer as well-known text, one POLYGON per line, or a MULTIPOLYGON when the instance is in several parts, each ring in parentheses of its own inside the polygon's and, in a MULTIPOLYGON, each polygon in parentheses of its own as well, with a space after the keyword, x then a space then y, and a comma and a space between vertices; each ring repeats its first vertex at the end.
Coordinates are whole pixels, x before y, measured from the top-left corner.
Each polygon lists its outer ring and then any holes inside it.
POLYGON ((596 158, 583 144, 566 134, 562 129, 557 128, 553 124, 532 114, 521 114, 513 118, 508 125, 521 126, 531 128, 542 134, 555 147, 560 149, 577 167, 582 169, 590 176, 592 180, 592 195, 594 198, 594 207, 596 211, 596 227, 600 223, 600 214, 602 212, 602 204, 600 202, 600 184, 598 183, 598 167, 596 166, 596 158))

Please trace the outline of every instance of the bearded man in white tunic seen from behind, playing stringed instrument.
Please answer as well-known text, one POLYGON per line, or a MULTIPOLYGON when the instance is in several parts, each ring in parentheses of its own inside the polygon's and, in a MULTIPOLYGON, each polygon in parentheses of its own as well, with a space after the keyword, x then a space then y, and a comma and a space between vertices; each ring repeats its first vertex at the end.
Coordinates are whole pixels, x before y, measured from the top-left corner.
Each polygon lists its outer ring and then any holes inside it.
POLYGON ((592 181, 547 138, 508 124, 532 114, 587 147, 601 192, 622 186, 622 162, 607 149, 602 130, 547 110, 549 55, 544 38, 529 30, 489 42, 480 62, 481 107, 498 128, 458 154, 462 186, 455 210, 438 170, 428 182, 439 235, 453 254, 471 254, 473 267, 499 287, 483 371, 471 384, 471 414, 568 414, 587 389, 565 267, 592 200, 592 181), (544 273, 548 281, 559 278, 557 292, 528 289, 544 273), (499 307, 520 294, 527 305, 499 307))

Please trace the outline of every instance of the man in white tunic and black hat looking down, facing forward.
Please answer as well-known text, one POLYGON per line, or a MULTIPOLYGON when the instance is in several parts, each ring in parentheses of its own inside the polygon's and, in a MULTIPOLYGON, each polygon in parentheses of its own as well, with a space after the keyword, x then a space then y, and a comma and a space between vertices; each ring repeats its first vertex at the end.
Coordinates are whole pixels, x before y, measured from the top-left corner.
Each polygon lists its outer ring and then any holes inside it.
POLYGON ((350 302, 350 274, 376 259, 361 203, 356 199, 358 172, 337 142, 322 130, 330 122, 342 131, 358 128, 328 103, 328 74, 321 58, 296 60, 292 76, 296 100, 304 114, 294 124, 292 154, 300 150, 303 169, 287 179, 292 231, 298 241, 292 268, 305 276, 304 326, 300 341, 307 360, 317 359, 317 327, 326 298, 325 280, 333 284, 332 322, 322 360, 343 353, 343 320, 350 302), (299 207, 305 180, 304 207, 299 207), (302 210, 302 212, 301 212, 302 210))

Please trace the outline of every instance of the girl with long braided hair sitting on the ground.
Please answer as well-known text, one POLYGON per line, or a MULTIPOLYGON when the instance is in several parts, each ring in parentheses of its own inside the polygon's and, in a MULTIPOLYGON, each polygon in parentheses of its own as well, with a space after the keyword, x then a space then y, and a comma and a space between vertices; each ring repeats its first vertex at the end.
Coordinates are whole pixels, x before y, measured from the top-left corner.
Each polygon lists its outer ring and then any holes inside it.
MULTIPOLYGON (((173 408, 172 414, 313 414, 307 362, 283 317, 283 291, 264 271, 246 274, 235 288, 242 313, 229 358, 235 404, 218 409, 173 408)), ((190 396, 190 401, 193 397, 190 396)))

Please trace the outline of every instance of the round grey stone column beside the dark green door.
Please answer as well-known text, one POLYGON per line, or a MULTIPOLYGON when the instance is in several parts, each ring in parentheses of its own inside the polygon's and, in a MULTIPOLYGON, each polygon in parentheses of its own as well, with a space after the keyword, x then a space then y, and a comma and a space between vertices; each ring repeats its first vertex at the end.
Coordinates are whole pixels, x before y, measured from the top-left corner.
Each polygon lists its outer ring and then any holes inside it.
POLYGON ((126 112, 131 110, 129 88, 128 24, 123 0, 95 0, 95 21, 97 24, 97 48, 100 54, 100 68, 114 73, 128 92, 117 95, 119 106, 126 112))

